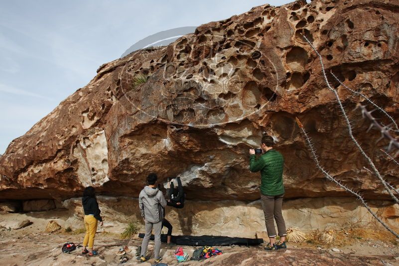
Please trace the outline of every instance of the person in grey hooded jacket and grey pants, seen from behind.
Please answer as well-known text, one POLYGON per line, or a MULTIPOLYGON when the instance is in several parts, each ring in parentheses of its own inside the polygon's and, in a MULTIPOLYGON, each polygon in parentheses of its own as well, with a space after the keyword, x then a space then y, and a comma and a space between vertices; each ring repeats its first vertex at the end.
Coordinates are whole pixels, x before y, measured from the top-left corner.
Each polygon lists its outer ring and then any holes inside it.
POLYGON ((154 230, 154 257, 155 264, 159 263, 162 258, 159 257, 161 249, 161 230, 162 219, 164 216, 163 209, 166 206, 166 200, 162 192, 156 188, 157 176, 151 173, 147 177, 148 186, 141 190, 138 196, 138 205, 140 208, 141 217, 145 223, 145 236, 141 244, 141 258, 140 262, 145 262, 148 258, 145 257, 151 231, 154 230))

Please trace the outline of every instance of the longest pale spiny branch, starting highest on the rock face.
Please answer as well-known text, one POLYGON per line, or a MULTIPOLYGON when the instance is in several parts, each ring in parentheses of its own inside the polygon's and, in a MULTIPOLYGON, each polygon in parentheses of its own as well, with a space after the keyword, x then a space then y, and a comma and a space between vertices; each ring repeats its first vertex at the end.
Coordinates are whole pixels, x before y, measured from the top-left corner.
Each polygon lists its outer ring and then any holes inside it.
POLYGON ((375 172, 376 176, 378 177, 378 179, 380 179, 381 183, 384 185, 385 189, 387 190, 387 192, 390 194, 390 196, 392 197, 392 199, 399 204, 399 199, 392 193, 391 189, 388 187, 387 182, 383 179, 383 177, 381 176, 380 172, 378 171, 377 167, 374 165, 373 161, 370 159, 370 157, 366 154, 366 152, 364 152, 363 148, 360 146, 359 142, 356 140, 356 138, 353 136, 352 134, 352 127, 351 124, 349 122, 348 116, 346 115, 346 112, 342 106, 341 100, 339 98, 339 95, 337 93, 337 91, 335 89, 333 89, 330 85, 330 83, 328 82, 327 79, 327 75, 326 75, 326 71, 324 69, 324 64, 323 64, 323 59, 321 57, 321 55, 319 54, 319 52, 316 50, 316 48, 314 48, 314 46, 310 43, 310 41, 306 38, 306 36, 302 35, 303 38, 309 43, 309 45, 312 47, 312 49, 316 52, 317 56, 319 57, 320 60, 320 64, 321 64, 321 70, 325 79, 325 82, 328 86, 328 88, 334 93, 335 97, 337 98, 338 101, 338 105, 341 109, 342 115, 346 121, 346 124, 348 126, 348 131, 349 131, 349 136, 351 137, 352 141, 355 143, 355 145, 357 146, 357 148, 359 149, 359 151, 362 153, 362 155, 366 158, 366 160, 368 161, 368 163, 370 164, 370 166, 373 168, 373 171, 375 172))

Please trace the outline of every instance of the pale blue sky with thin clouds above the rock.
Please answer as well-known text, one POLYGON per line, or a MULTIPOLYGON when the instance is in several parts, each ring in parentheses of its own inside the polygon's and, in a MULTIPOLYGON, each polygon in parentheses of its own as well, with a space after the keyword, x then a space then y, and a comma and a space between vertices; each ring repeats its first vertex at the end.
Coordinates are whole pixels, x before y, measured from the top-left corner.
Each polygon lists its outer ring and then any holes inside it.
POLYGON ((0 0, 0 154, 140 39, 287 2, 0 0))

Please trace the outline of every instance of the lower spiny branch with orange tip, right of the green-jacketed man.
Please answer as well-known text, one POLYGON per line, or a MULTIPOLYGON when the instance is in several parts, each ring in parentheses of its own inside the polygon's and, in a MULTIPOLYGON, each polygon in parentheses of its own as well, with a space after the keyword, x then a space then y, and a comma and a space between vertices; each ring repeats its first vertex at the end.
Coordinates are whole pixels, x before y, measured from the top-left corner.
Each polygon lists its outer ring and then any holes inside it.
POLYGON ((303 129, 303 125, 301 124, 301 122, 299 121, 298 118, 296 118, 296 122, 298 123, 299 128, 301 129, 301 132, 303 133, 307 146, 310 149, 310 152, 313 156, 313 160, 316 163, 317 168, 324 174, 324 176, 330 180, 331 182, 335 183, 336 185, 338 185, 339 187, 341 187, 342 189, 344 189, 345 191, 355 195, 358 200, 362 203, 362 205, 371 213, 371 215, 374 216, 374 218, 377 219, 377 221, 379 221, 388 231, 390 231, 394 236, 396 236, 397 238, 399 238, 399 235, 393 231, 386 223, 383 222, 383 220, 380 219, 380 217, 377 216, 377 214, 375 212, 373 212, 371 210, 371 208, 369 207, 369 205, 366 203, 366 201, 363 199, 362 195, 360 195, 359 192, 354 191, 353 189, 348 188, 346 185, 342 184, 341 181, 336 180, 334 177, 332 177, 324 168, 323 166, 320 164, 319 160, 318 160, 318 156, 313 148, 313 144, 311 141, 311 138, 308 136, 308 134, 306 133, 306 131, 303 129))

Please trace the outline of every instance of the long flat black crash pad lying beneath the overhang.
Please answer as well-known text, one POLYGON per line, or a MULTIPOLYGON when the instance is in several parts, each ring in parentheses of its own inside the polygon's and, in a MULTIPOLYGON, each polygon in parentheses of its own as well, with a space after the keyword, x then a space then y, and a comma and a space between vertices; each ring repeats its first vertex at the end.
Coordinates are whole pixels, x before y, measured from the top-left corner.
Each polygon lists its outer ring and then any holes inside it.
MULTIPOLYGON (((144 234, 138 234, 139 238, 144 238, 144 234)), ((154 240, 154 235, 151 235, 150 240, 154 240)), ((161 235, 161 242, 167 242, 167 236, 161 235)), ((231 238, 219 236, 172 236, 171 242, 179 246, 256 246, 262 244, 262 238, 231 238)))

